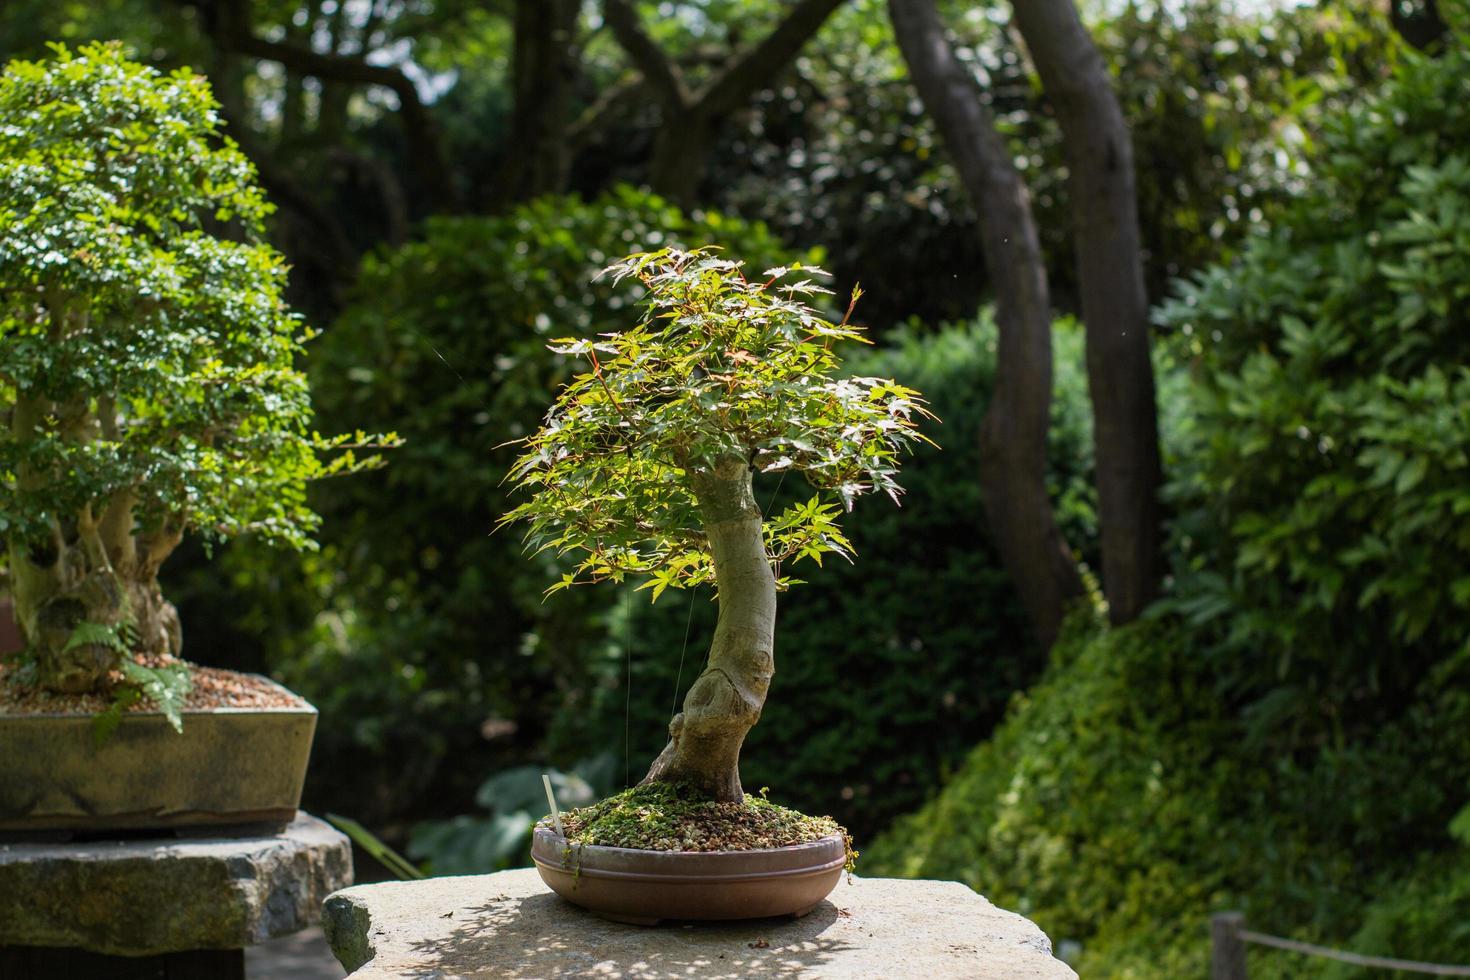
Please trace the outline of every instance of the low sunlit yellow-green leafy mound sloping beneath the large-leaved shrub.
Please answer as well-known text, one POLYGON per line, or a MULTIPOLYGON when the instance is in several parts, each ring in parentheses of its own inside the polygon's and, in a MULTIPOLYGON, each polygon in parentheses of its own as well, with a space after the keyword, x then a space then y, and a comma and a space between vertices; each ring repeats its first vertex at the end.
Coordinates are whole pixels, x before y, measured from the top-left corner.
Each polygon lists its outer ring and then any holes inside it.
MULTIPOLYGON (((1180 623, 1079 616, 995 736, 864 849, 864 874, 961 880, 1080 949, 1085 977, 1204 976, 1226 908, 1274 934, 1461 962, 1470 862, 1436 820, 1470 798, 1467 667, 1426 677, 1376 738, 1291 758, 1239 738, 1180 623)), ((1252 954, 1251 976, 1339 976, 1326 968, 1252 954)))

